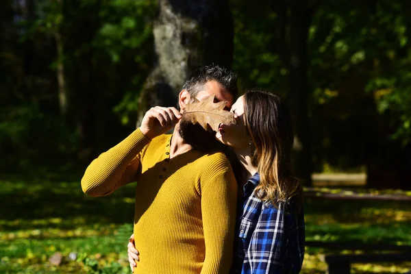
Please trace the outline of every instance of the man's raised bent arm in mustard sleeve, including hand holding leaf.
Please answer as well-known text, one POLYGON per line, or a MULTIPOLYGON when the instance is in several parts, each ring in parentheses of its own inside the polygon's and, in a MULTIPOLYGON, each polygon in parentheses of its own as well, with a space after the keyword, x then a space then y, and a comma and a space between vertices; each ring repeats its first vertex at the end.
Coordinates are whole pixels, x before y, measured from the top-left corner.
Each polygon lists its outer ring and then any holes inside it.
POLYGON ((82 178, 84 193, 93 197, 105 196, 133 182, 140 165, 140 151, 151 139, 171 129, 181 117, 175 108, 151 108, 140 128, 88 166, 82 178))

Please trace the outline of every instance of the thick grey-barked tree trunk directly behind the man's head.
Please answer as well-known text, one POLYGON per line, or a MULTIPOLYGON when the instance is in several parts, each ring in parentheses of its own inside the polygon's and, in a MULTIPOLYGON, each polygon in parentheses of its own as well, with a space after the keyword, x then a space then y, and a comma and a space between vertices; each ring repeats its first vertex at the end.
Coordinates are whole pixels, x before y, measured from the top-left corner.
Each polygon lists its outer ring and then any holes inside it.
POLYGON ((177 105, 185 79, 198 66, 232 66, 234 31, 227 0, 160 0, 153 35, 155 66, 140 95, 137 125, 152 106, 177 105))

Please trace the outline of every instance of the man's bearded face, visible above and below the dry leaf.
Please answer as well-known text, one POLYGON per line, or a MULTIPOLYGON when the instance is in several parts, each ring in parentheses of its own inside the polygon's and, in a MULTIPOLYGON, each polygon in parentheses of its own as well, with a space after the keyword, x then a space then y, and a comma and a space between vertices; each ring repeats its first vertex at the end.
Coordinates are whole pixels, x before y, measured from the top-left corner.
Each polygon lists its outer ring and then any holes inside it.
MULTIPOLYGON (((214 101, 227 101, 225 109, 229 110, 232 107, 234 97, 228 90, 223 88, 218 82, 207 82, 195 97, 199 101, 214 95, 214 101)), ((192 145, 200 151, 208 151, 216 148, 219 144, 216 142, 215 133, 211 128, 204 130, 199 124, 193 125, 190 120, 183 118, 179 121, 179 135, 182 136, 185 142, 192 145)))

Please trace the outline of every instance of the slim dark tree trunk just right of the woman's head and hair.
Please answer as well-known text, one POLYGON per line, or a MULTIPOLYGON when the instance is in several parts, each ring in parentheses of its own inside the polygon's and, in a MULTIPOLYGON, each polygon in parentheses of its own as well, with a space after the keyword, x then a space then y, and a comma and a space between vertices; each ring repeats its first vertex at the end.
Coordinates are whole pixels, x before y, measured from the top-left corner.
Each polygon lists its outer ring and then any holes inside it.
POLYGON ((292 166, 306 186, 312 185, 312 137, 308 115, 307 40, 313 8, 308 0, 275 0, 277 14, 274 49, 288 69, 288 105, 292 114, 295 142, 292 166), (288 16, 290 14, 290 16, 288 16), (288 32, 289 29, 289 32, 288 32))

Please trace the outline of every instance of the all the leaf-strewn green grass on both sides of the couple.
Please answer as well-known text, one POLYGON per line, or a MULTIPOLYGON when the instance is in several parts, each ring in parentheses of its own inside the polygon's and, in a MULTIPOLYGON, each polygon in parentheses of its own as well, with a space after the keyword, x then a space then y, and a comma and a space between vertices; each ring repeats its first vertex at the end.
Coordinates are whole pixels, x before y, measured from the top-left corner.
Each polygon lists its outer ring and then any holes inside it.
MULTIPOLYGON (((0 273, 130 273, 134 184, 91 198, 78 180, 9 177, 0 181, 0 201, 0 273), (62 263, 51 266, 56 252, 62 263)), ((305 214, 307 240, 411 245, 410 203, 306 199, 305 214)), ((336 252, 349 251, 308 247, 303 273, 324 273, 321 256, 336 252)), ((353 273, 407 269, 410 264, 356 264, 353 273)))

